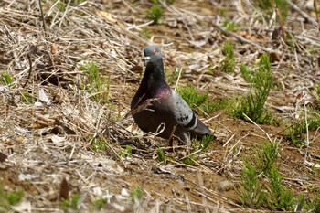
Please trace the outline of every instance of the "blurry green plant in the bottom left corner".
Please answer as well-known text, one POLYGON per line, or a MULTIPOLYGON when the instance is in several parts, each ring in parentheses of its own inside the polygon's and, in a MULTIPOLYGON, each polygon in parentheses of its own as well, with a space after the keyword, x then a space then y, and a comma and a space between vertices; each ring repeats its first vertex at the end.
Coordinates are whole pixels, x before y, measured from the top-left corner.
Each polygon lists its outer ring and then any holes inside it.
POLYGON ((3 186, 0 186, 0 211, 9 212, 12 206, 16 206, 25 197, 25 191, 17 189, 16 191, 5 191, 3 186))

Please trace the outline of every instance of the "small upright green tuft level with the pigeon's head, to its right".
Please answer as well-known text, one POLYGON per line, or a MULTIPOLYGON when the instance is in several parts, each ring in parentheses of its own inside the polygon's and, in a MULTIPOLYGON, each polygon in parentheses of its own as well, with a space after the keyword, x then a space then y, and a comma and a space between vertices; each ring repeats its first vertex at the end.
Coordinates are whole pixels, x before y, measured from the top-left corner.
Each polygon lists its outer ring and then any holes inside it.
POLYGON ((233 45, 229 42, 225 42, 222 48, 222 54, 225 56, 221 63, 220 70, 223 72, 234 72, 236 67, 235 59, 234 59, 234 48, 233 45))

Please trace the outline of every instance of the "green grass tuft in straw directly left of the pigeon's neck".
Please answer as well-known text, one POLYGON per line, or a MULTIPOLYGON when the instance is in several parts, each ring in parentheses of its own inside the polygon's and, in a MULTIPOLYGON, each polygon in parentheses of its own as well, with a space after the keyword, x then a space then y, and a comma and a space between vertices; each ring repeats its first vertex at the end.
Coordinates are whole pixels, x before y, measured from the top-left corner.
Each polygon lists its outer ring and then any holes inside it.
POLYGON ((108 101, 110 78, 108 78, 106 84, 104 84, 99 74, 99 68, 93 61, 84 62, 80 65, 80 69, 87 77, 88 86, 84 86, 84 88, 91 93, 91 99, 93 101, 108 101), (106 88, 104 87, 105 85, 106 88))

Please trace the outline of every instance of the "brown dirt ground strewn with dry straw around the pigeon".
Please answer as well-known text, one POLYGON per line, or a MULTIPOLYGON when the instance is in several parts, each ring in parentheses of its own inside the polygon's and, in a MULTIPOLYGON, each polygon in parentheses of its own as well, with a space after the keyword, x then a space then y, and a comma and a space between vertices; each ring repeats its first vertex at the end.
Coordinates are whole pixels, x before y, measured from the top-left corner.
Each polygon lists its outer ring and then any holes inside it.
POLYGON ((160 1, 164 15, 158 25, 145 16, 151 2, 70 1, 61 11, 58 2, 46 0, 44 22, 37 1, 0 3, 0 72, 14 79, 0 85, 0 184, 5 191, 25 191, 14 209, 63 212, 62 194, 80 194, 78 210, 69 212, 99 212, 92 201, 100 197, 108 201, 101 212, 269 211, 241 206, 237 188, 244 157, 270 140, 279 144, 283 185, 295 195, 315 197, 319 128, 304 134, 309 144, 301 148, 288 136, 291 123, 304 119, 304 104, 320 108, 319 23, 312 1, 290 2, 284 27, 293 47, 281 37, 272 39, 279 24, 250 1, 160 1), (237 23, 237 30, 224 30, 226 21, 237 23), (219 70, 226 41, 235 48, 236 70, 229 74, 219 70), (195 151, 195 165, 185 165, 186 147, 172 151, 164 139, 143 135, 128 115, 148 44, 161 48, 170 86, 181 68, 178 84, 191 84, 212 101, 243 96, 251 86, 240 64, 252 66, 270 54, 274 87, 265 107, 280 122, 256 125, 224 111, 201 116, 216 139, 206 152, 195 151), (96 62, 108 85, 107 101, 92 101, 82 90, 80 61, 96 62), (33 101, 21 99, 26 92, 33 101), (94 150, 92 137, 104 148, 94 150), (123 156, 127 144, 132 154, 123 156), (167 164, 157 160, 159 146, 167 164), (231 186, 221 188, 224 181, 231 186), (138 186, 143 198, 133 202, 130 194, 138 186))

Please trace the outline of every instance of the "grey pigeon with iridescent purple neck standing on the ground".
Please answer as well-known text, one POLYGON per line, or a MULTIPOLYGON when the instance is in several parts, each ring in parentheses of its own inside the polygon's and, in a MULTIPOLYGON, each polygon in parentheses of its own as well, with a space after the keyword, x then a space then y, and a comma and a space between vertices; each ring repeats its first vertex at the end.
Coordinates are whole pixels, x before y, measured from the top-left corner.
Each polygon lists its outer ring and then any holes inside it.
POLYGON ((190 137, 210 134, 187 102, 166 83, 160 49, 148 46, 144 57, 144 77, 131 101, 133 119, 139 128, 165 139, 175 136, 184 144, 190 142, 190 137))

